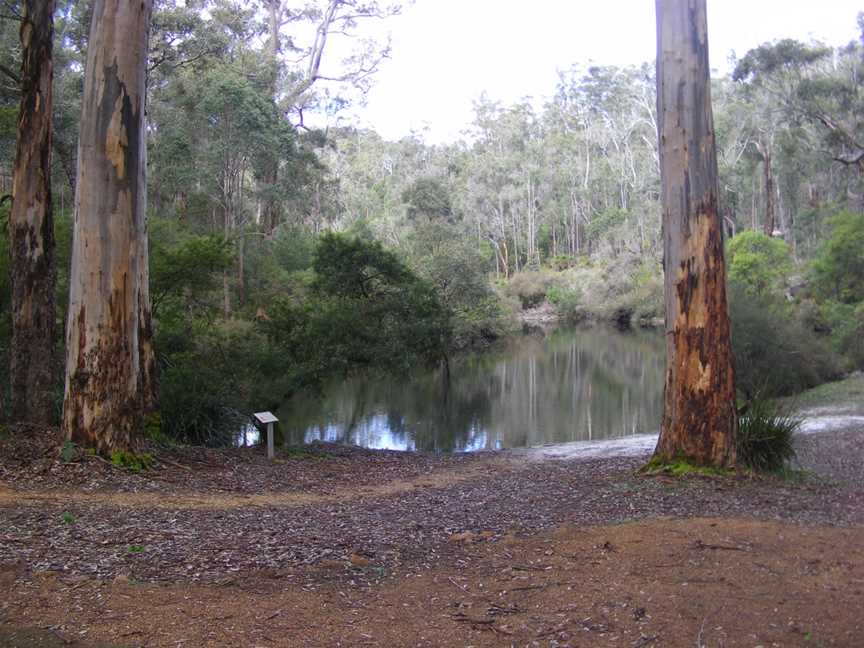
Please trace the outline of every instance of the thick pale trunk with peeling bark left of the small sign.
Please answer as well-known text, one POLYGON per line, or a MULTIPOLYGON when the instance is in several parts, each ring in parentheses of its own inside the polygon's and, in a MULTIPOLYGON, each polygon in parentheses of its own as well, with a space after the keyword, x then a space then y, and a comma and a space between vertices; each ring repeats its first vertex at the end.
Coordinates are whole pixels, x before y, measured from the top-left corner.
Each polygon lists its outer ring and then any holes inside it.
POLYGON ((78 144, 63 429, 135 449, 155 402, 144 129, 152 0, 95 0, 78 144))

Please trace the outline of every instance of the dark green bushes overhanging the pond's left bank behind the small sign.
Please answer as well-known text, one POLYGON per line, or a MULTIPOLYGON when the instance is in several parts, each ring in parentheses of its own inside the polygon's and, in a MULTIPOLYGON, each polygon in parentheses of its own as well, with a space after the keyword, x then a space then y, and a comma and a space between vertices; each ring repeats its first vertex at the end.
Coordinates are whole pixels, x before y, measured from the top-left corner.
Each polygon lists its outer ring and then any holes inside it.
POLYGON ((300 283, 254 321, 179 318, 175 333, 162 333, 172 341, 160 375, 164 433, 229 444, 249 412, 276 409, 333 376, 405 373, 446 352, 447 309, 380 243, 325 234, 300 283))

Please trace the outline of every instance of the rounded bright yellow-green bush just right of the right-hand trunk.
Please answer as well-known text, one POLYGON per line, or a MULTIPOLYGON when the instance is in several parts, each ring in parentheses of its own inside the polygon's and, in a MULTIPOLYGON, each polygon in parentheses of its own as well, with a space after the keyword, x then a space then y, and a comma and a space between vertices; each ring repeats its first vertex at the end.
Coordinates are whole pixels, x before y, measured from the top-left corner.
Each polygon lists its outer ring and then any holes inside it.
POLYGON ((761 232, 745 230, 726 245, 729 281, 753 295, 778 292, 792 272, 786 242, 761 232))

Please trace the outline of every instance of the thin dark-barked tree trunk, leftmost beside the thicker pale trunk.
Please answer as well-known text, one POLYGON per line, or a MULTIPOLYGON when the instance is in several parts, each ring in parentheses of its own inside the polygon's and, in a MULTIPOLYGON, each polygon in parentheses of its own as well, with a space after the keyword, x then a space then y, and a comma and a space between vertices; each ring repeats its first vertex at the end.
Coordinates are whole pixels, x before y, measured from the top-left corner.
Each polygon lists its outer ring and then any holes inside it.
POLYGON ((21 108, 9 214, 11 419, 52 421, 54 219, 51 211, 53 0, 21 7, 21 108))

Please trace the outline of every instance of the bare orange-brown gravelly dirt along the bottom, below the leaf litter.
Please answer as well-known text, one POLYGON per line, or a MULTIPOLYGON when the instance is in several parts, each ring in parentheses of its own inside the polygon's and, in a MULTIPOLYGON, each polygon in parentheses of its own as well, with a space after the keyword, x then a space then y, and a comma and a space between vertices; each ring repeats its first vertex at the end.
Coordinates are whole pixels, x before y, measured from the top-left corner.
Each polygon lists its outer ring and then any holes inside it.
POLYGON ((862 551, 860 528, 659 519, 478 542, 464 548, 462 567, 373 587, 348 576, 313 588, 274 574, 204 586, 41 573, 10 585, 0 641, 860 646, 862 551))

